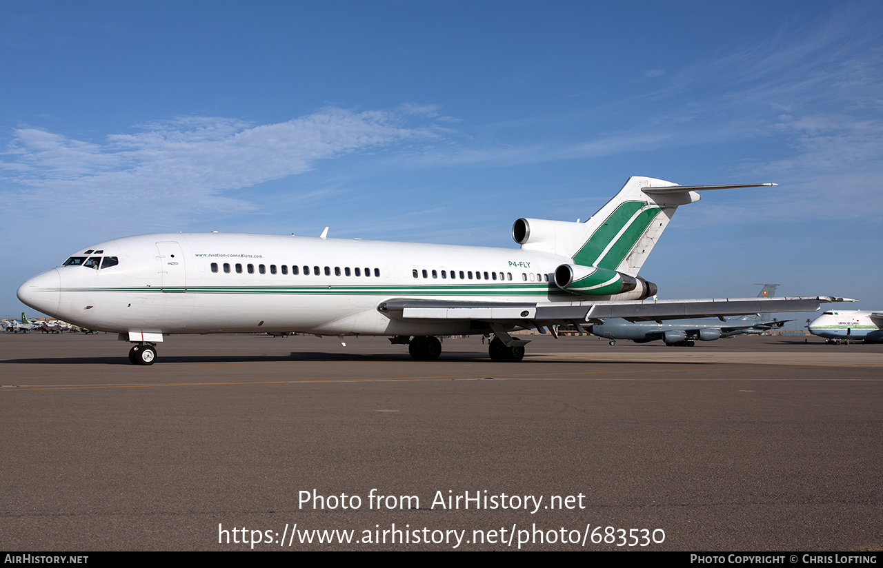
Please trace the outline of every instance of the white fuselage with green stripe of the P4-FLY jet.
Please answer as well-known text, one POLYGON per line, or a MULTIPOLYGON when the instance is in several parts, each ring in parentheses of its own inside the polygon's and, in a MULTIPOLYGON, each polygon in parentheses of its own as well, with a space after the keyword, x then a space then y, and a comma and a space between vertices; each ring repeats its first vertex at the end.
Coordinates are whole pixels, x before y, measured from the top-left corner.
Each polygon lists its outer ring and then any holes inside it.
POLYGON ((478 333, 470 322, 405 322, 377 308, 397 298, 570 301, 578 298, 549 281, 568 261, 530 250, 441 244, 141 235, 80 250, 28 280, 19 298, 72 324, 116 333, 478 333))

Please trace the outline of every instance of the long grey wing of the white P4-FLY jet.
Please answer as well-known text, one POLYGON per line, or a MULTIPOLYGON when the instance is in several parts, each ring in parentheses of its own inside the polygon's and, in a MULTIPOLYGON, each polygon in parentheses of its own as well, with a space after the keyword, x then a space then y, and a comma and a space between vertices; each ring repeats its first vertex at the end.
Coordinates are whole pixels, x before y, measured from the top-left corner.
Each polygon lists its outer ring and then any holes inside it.
POLYGON ((849 300, 834 296, 539 303, 400 299, 383 302, 378 309, 390 318, 397 319, 472 319, 534 327, 538 324, 598 323, 605 318, 625 318, 634 322, 723 318, 779 311, 816 311, 822 303, 844 301, 849 300))

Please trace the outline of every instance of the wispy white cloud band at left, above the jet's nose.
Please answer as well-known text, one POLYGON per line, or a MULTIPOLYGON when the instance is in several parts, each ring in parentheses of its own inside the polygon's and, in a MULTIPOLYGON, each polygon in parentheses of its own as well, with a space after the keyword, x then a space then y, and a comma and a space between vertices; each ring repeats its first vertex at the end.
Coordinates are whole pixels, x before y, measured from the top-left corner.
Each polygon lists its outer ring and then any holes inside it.
POLYGON ((104 209, 137 202, 146 210, 248 209, 226 191, 302 174, 317 161, 434 140, 434 107, 404 105, 354 112, 324 108, 284 123, 250 124, 223 117, 184 117, 144 123, 138 131, 85 142, 20 128, 0 161, 2 201, 104 209))

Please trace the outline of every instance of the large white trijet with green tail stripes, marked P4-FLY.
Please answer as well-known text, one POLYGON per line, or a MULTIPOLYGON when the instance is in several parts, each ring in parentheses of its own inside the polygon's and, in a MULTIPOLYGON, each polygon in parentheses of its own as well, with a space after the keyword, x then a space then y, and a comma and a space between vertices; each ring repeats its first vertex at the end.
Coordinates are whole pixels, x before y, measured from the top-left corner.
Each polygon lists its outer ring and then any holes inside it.
POLYGON ((135 343, 151 364, 165 334, 301 332, 388 335, 416 359, 442 351, 436 336, 494 333, 494 361, 520 361, 519 328, 542 333, 600 318, 661 319, 811 311, 826 296, 645 300, 638 271, 678 206, 697 191, 630 177, 585 222, 519 219, 521 249, 239 234, 141 235, 79 250, 27 280, 19 299, 72 324, 135 343))

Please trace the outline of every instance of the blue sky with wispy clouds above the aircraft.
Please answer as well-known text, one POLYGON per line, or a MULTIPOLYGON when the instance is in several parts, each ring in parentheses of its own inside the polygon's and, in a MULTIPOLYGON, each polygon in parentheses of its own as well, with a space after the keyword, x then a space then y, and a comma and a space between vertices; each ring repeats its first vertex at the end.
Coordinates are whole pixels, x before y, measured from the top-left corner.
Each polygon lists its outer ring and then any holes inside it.
POLYGON ((164 231, 517 247, 628 176, 706 192, 663 298, 883 309, 879 2, 17 2, 0 19, 0 315, 164 231), (622 5, 620 5, 622 4, 622 5))

